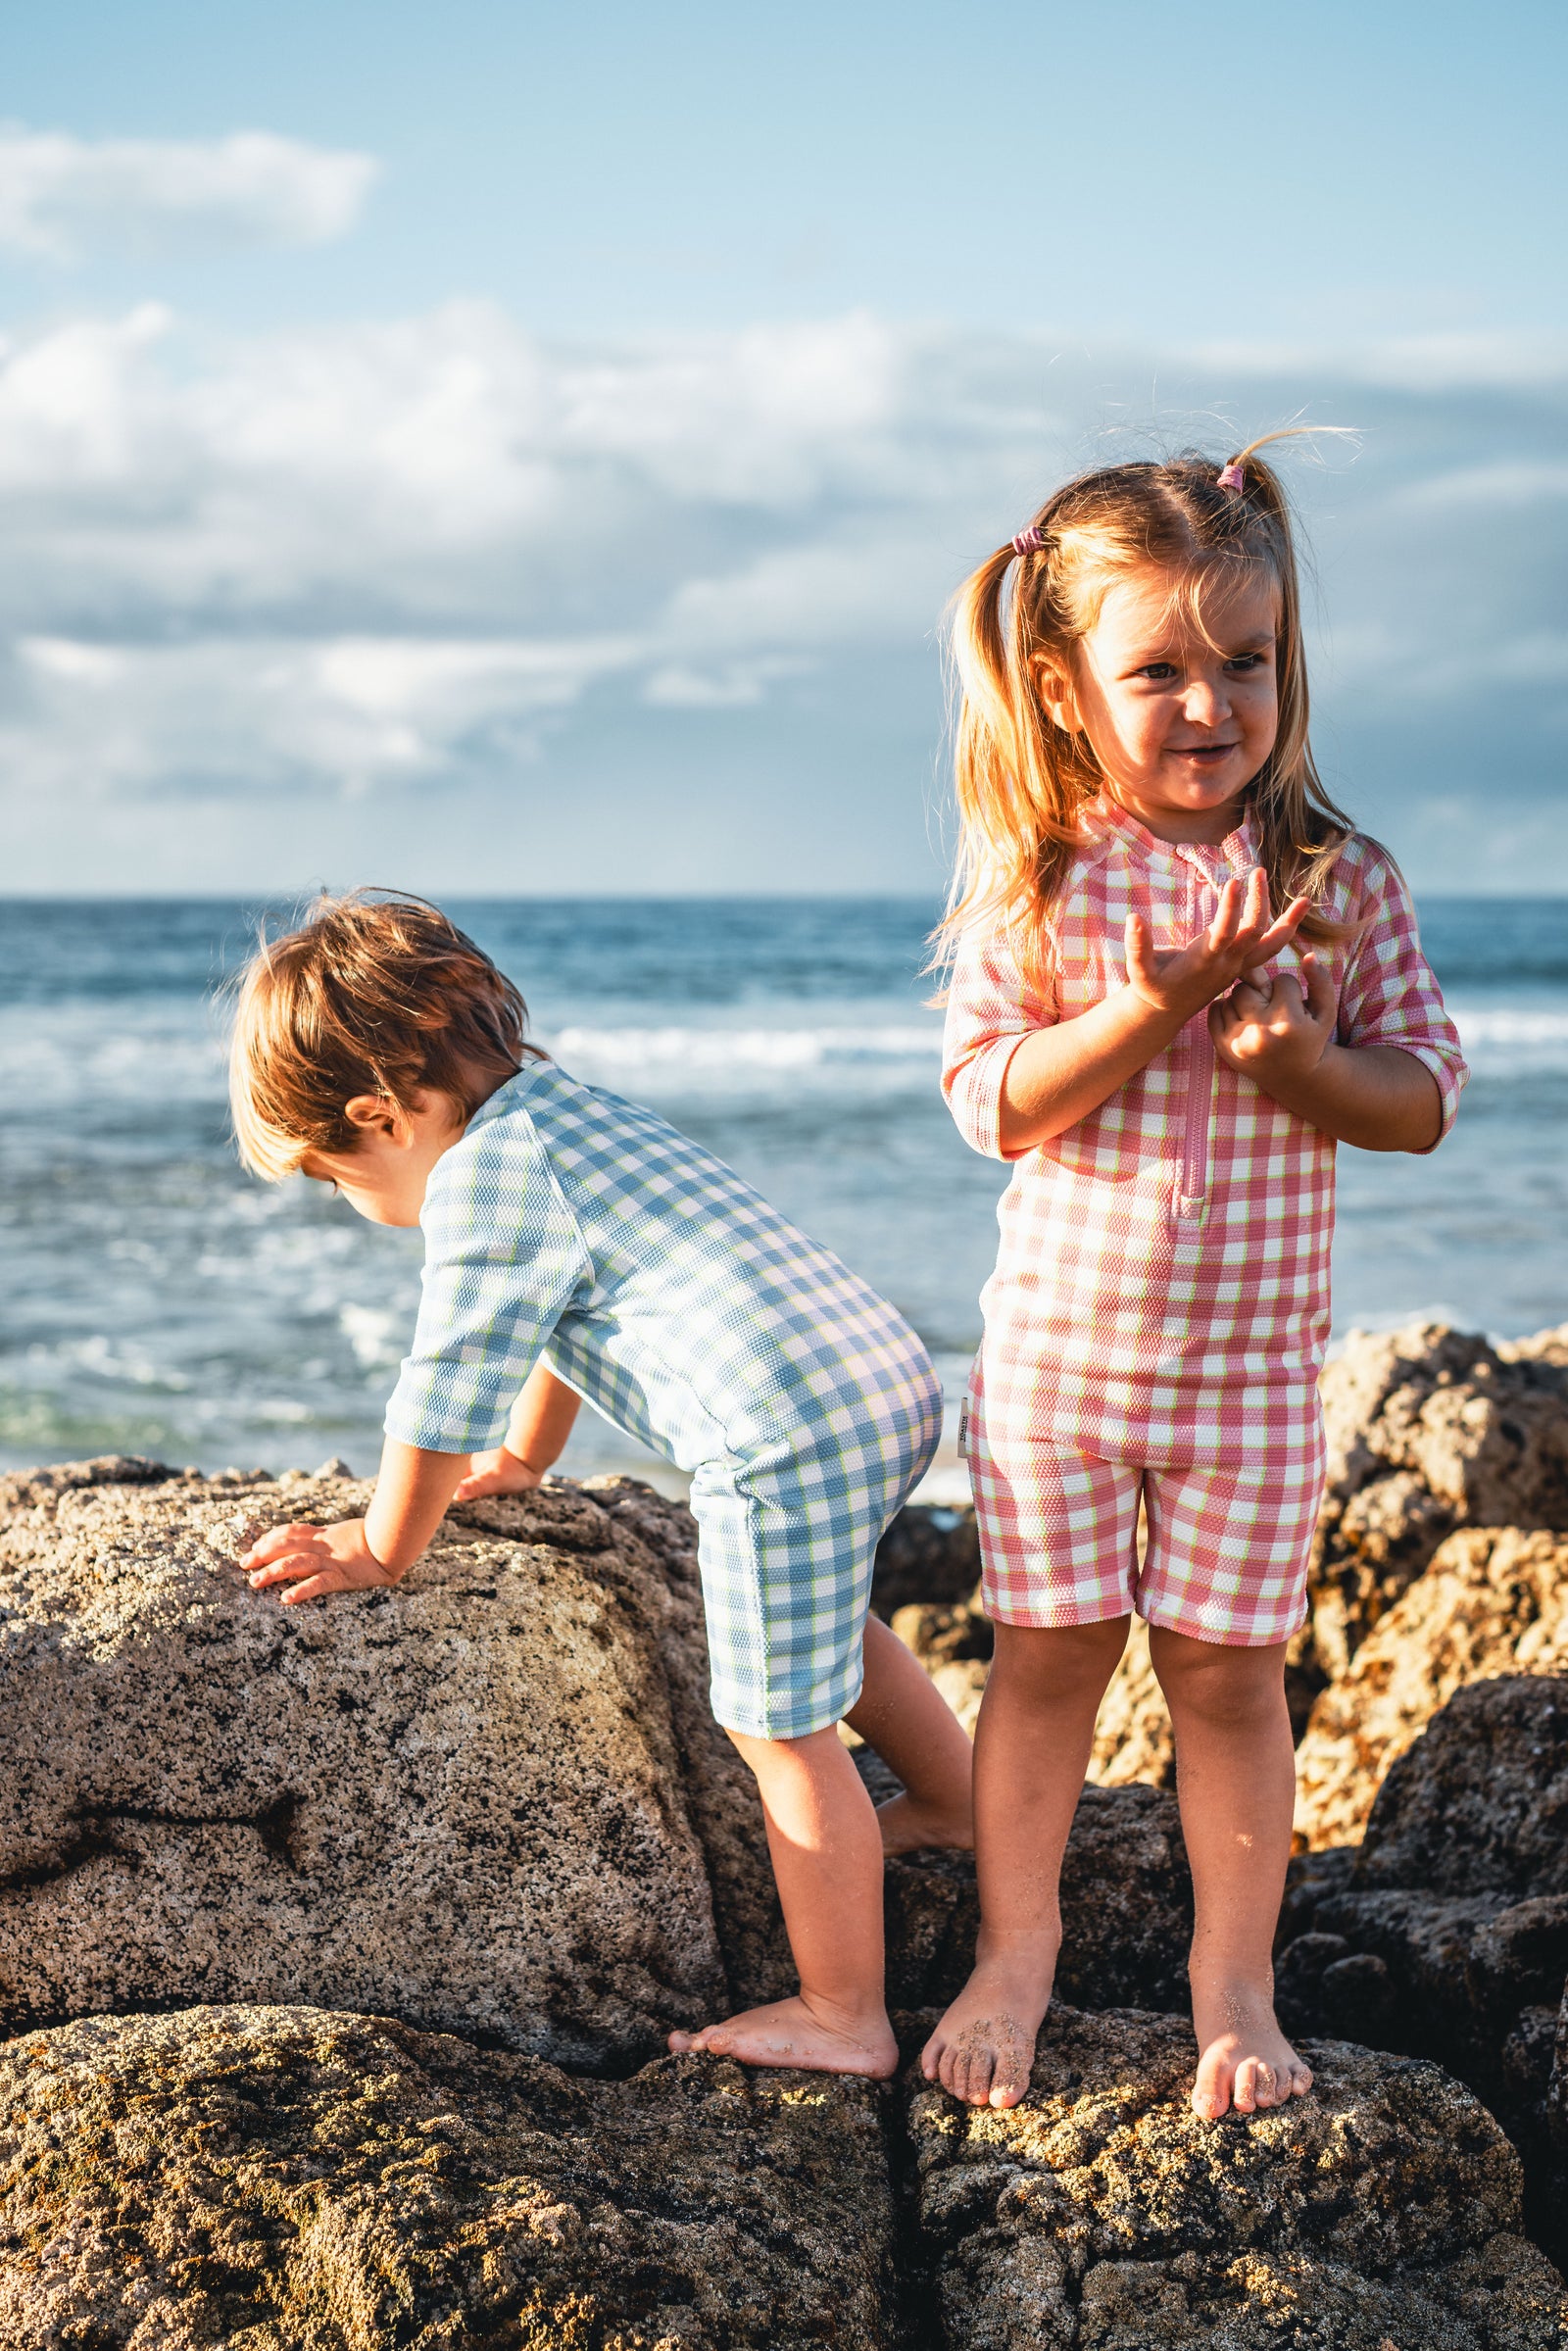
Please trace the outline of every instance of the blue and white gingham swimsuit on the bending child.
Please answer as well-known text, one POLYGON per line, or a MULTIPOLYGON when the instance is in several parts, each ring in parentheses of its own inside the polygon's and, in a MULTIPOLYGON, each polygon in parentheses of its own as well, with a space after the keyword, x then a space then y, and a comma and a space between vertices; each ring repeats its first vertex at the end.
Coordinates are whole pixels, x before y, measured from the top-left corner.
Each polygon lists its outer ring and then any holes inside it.
POLYGON ((872 1554, 943 1425, 900 1314, 651 1110, 541 1060, 435 1166, 390 1436, 475 1453, 541 1357, 693 1472, 712 1707, 804 1737, 860 1693, 872 1554))

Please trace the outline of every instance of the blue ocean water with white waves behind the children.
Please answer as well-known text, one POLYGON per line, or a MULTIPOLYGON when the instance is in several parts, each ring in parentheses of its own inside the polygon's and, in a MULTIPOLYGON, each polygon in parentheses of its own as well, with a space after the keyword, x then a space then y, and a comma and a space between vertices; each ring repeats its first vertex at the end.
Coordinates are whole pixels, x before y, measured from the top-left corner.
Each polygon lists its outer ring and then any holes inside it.
MULTIPOLYGON (((651 1103, 896 1300, 957 1404, 1004 1171, 938 1096, 936 907, 451 912, 567 1067, 651 1103)), ((237 1166, 216 992, 256 917, 0 903, 0 1465, 374 1467, 421 1244, 237 1166)), ((1422 931, 1474 1077, 1432 1159, 1340 1154, 1335 1326, 1568 1321, 1568 900, 1432 900, 1422 931)), ((585 1411, 564 1467, 649 1462, 585 1411)), ((957 1479, 947 1453, 931 1493, 957 1479)))

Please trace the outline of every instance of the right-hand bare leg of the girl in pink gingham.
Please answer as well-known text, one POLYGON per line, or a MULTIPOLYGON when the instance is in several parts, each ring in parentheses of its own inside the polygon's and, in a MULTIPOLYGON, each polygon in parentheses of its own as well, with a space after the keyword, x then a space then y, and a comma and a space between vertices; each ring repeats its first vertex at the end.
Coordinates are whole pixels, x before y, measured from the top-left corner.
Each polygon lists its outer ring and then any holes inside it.
POLYGON ((1192 2109, 1201 2116, 1279 2106, 1312 2088, 1312 2069, 1274 2022, 1272 1947, 1295 1801, 1284 1655, 1284 1643, 1225 1648, 1150 1627, 1197 1900, 1192 2109))

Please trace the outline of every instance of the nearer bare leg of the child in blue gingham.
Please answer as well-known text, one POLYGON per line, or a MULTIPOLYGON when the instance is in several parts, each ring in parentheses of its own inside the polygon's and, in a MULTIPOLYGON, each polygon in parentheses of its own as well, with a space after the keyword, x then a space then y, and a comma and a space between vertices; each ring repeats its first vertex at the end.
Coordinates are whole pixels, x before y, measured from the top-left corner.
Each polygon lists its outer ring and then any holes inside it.
POLYGON ((670 2034, 670 2048, 884 2078, 898 2043, 882 1996, 882 1834, 860 1773, 837 1730, 729 1735, 757 1773, 799 1991, 670 2034))

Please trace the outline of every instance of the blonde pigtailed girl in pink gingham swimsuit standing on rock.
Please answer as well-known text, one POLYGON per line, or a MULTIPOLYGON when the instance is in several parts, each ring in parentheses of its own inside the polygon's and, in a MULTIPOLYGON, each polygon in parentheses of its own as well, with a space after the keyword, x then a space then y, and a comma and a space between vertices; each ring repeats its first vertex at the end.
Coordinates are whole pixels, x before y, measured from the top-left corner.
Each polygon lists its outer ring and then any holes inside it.
POLYGON ((964 1429, 997 1627, 983 1923, 924 2052, 976 2106, 1030 2083, 1063 1848, 1133 1610, 1197 1895, 1192 2104, 1248 2114, 1312 2083, 1269 1949, 1335 1143, 1434 1150, 1465 1063, 1399 870, 1312 764, 1291 522, 1260 447, 1081 475, 957 597, 943 1091, 976 1150, 1016 1161, 964 1429))

